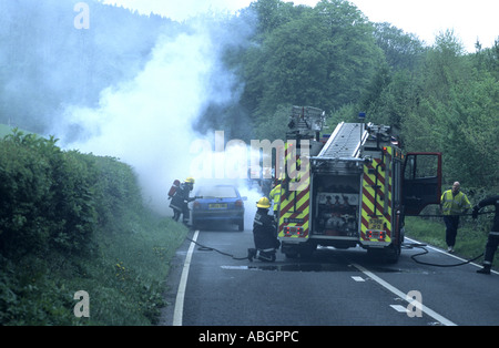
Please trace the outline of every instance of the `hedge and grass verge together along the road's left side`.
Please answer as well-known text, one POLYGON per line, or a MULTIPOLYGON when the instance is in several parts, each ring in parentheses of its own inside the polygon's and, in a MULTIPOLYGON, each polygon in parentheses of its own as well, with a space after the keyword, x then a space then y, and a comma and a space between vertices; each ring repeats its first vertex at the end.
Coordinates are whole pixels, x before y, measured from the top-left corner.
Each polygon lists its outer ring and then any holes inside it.
POLYGON ((142 205, 130 166, 14 130, 0 141, 0 325, 151 325, 186 229, 142 205), (91 317, 73 315, 86 290, 91 317))

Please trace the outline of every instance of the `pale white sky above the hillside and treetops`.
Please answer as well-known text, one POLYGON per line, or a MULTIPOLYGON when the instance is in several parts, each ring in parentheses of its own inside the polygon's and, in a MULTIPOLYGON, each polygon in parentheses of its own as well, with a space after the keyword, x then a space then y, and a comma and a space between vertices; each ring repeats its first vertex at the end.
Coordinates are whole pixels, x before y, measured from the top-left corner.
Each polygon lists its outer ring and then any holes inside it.
MULTIPOLYGON (((234 12, 252 0, 104 0, 141 13, 157 13, 182 21, 207 11, 234 12)), ((317 0, 294 0, 314 7, 317 0)), ((431 45, 435 37, 452 29, 468 52, 475 52, 477 39, 483 48, 499 37, 498 0, 350 0, 373 22, 389 22, 415 33, 431 45)))

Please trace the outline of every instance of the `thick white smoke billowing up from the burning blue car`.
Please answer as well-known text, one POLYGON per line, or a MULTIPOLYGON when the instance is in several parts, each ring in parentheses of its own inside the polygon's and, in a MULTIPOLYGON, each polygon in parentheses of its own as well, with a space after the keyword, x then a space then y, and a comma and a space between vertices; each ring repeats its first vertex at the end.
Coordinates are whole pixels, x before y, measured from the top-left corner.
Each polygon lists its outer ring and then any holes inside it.
POLYGON ((174 180, 191 175, 192 124, 210 102, 228 103, 238 95, 234 74, 222 64, 224 42, 236 33, 214 19, 196 20, 176 37, 157 40, 150 61, 136 75, 101 92, 99 106, 68 108, 54 133, 64 147, 115 156, 136 171, 144 198, 167 211, 166 192, 174 180), (213 74, 216 84, 213 85, 213 74), (78 127, 78 141, 64 140, 78 127))

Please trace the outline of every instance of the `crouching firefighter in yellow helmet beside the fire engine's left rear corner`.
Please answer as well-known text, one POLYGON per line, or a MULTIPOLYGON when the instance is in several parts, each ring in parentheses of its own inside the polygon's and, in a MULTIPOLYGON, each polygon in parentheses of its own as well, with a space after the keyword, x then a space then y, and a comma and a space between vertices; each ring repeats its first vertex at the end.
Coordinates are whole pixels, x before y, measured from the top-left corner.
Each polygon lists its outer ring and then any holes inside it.
POLYGON ((263 262, 275 262, 275 252, 281 246, 276 237, 277 227, 272 215, 268 215, 271 202, 262 197, 257 203, 258 208, 253 221, 253 238, 255 248, 247 249, 247 258, 253 262, 257 258, 263 262))

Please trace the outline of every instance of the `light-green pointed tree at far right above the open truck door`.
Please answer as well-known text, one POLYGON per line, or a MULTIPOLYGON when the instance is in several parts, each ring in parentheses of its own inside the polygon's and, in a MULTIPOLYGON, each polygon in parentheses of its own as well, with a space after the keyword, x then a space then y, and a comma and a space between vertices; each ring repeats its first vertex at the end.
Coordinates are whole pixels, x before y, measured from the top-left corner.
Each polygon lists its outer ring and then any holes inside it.
POLYGON ((499 83, 472 63, 451 31, 438 35, 416 81, 416 104, 403 119, 403 133, 408 150, 444 153, 446 182, 493 186, 499 83))

